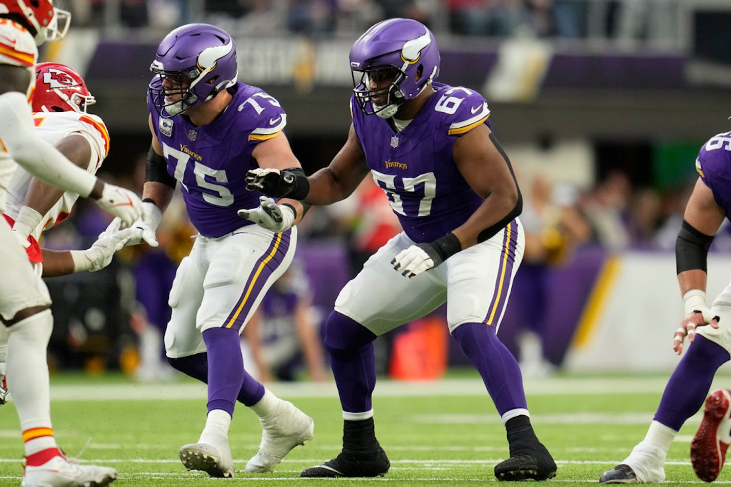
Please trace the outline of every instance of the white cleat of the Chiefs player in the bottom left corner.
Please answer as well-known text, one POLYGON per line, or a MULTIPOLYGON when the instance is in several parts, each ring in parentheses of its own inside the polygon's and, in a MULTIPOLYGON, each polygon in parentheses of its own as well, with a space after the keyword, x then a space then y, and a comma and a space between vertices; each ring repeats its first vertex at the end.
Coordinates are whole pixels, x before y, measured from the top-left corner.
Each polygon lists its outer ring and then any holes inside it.
POLYGON ((101 487, 108 486, 117 478, 117 471, 110 467, 72 464, 61 456, 38 467, 26 465, 22 487, 101 487))

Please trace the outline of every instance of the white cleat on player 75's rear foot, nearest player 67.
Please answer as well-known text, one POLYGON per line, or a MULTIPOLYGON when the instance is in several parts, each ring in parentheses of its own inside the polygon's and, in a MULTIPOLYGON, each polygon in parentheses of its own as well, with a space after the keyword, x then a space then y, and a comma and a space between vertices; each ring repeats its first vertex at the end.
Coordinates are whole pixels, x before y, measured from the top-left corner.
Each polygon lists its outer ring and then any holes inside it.
POLYGON ((246 472, 271 472, 289 450, 312 440, 315 422, 289 401, 280 400, 276 410, 264 418, 259 451, 246 464, 246 472))

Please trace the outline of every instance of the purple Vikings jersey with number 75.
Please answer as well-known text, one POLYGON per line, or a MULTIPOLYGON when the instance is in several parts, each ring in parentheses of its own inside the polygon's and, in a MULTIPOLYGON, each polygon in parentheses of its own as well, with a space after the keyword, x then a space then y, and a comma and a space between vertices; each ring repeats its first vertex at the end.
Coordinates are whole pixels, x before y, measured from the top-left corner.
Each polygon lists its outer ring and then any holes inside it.
POLYGON ((202 127, 184 114, 161 117, 148 99, 167 172, 181 183, 190 221, 205 237, 252 224, 236 214, 258 207, 262 195, 246 189, 246 172, 258 167, 251 151, 287 124, 279 102, 260 88, 239 82, 235 90, 219 118, 202 127))

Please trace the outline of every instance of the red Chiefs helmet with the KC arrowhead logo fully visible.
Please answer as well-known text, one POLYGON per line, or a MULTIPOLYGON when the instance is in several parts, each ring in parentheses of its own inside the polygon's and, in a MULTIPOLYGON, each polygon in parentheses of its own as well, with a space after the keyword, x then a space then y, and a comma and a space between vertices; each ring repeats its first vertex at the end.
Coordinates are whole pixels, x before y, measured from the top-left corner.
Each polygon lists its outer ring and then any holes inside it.
POLYGON ((80 74, 60 63, 36 64, 36 89, 31 99, 34 112, 86 113, 96 103, 80 74))

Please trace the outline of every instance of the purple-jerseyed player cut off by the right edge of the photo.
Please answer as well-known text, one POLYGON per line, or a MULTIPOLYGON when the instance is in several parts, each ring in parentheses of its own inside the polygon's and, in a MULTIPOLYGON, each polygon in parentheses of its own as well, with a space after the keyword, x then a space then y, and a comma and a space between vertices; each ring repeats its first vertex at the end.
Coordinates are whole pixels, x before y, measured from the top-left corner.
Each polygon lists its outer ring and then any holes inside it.
MULTIPOLYGON (((670 444, 683 423, 700 409, 716 370, 729 361, 731 284, 716 296, 710 309, 705 288, 708 248, 731 210, 730 150, 731 132, 711 137, 701 147, 695 162, 700 177, 686 204, 675 241, 685 318, 675 331, 673 350, 683 353, 686 336, 691 345, 667 381, 645 439, 621 464, 604 472, 599 483, 663 482, 670 444)), ((715 480, 724 464, 731 440, 730 399, 728 391, 713 391, 708 396, 703 421, 691 442, 693 469, 705 482, 715 480)))

